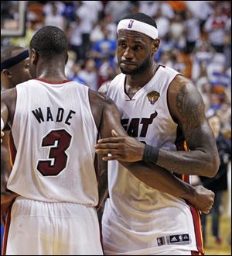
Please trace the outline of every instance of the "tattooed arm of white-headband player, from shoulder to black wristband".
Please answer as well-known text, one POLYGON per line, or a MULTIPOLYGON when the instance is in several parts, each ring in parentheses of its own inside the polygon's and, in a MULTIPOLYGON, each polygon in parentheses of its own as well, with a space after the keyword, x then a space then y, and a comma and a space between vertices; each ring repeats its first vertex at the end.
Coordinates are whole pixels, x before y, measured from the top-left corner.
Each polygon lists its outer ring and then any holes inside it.
POLYGON ((213 177, 218 171, 219 158, 200 92, 191 81, 177 76, 169 85, 168 102, 190 151, 160 149, 156 164, 178 174, 213 177))

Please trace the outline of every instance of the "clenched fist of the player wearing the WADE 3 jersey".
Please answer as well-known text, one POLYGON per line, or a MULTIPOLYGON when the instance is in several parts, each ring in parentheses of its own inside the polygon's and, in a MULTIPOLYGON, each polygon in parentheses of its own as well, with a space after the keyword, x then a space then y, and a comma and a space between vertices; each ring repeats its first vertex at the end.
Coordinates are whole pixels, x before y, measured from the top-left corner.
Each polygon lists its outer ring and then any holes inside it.
POLYGON ((191 203, 193 203, 200 212, 205 214, 210 213, 210 209, 214 202, 214 193, 211 190, 204 188, 202 185, 197 185, 194 189, 195 195, 193 196, 191 203))

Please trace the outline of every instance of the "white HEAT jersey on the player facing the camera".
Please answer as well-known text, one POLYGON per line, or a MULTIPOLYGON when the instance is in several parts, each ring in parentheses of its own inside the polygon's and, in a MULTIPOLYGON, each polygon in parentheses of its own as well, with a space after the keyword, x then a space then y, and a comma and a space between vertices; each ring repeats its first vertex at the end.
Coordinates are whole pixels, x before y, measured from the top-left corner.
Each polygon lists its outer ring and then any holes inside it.
MULTIPOLYGON (((176 150, 177 125, 169 113, 167 90, 177 74, 160 66, 132 99, 125 94, 125 74, 111 81, 107 95, 121 111, 121 123, 131 137, 165 150, 176 150)), ((109 162, 108 178, 109 199, 103 216, 105 254, 200 249, 193 223, 193 217, 199 222, 196 209, 193 213, 183 199, 148 187, 118 161, 109 162)))

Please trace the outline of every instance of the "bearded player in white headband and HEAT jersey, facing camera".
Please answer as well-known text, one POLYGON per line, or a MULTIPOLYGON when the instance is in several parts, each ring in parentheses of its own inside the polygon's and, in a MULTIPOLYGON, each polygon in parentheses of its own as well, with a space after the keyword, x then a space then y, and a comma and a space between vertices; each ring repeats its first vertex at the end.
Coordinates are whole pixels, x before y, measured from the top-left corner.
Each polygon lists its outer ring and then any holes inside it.
POLYGON ((156 179, 152 171, 138 169, 131 175, 123 166, 143 161, 186 182, 189 175, 217 173, 217 146, 200 93, 178 72, 155 63, 158 48, 158 29, 149 16, 137 13, 118 23, 122 74, 101 92, 118 106, 128 135, 141 142, 113 131, 113 137, 99 140, 96 146, 98 154, 109 154, 103 158, 109 161, 109 198, 102 216, 104 254, 203 254, 196 208, 172 196, 175 188, 172 195, 152 189, 156 179))

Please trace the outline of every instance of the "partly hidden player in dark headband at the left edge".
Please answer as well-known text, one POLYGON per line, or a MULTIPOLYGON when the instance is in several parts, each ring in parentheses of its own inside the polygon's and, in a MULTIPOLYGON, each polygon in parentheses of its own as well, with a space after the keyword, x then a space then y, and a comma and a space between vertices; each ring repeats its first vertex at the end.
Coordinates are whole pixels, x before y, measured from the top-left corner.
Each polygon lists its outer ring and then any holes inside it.
MULTIPOLYGON (((1 92, 15 87, 31 78, 29 74, 29 51, 22 47, 8 46, 1 50, 1 92)), ((9 154, 9 131, 1 144, 1 221, 5 222, 3 215, 7 213, 16 194, 6 190, 5 182, 8 181, 11 171, 9 154)))

